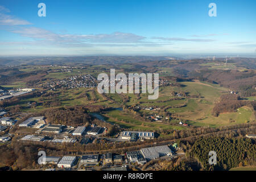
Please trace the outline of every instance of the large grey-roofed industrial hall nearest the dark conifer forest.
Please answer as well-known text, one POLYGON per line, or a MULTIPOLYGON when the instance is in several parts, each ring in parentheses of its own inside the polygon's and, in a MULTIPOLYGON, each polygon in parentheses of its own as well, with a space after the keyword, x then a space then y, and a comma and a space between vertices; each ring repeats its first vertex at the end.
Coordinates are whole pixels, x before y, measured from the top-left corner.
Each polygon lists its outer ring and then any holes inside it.
POLYGON ((168 146, 141 148, 141 153, 147 161, 158 159, 165 155, 172 155, 172 151, 168 146))

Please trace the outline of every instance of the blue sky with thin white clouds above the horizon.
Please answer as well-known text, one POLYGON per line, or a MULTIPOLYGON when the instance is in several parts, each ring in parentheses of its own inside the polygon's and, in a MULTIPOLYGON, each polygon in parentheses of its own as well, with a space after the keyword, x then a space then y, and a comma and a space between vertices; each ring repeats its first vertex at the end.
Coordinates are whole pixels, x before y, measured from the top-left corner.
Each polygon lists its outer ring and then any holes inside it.
POLYGON ((255 8, 255 0, 1 0, 0 55, 255 54, 255 8))

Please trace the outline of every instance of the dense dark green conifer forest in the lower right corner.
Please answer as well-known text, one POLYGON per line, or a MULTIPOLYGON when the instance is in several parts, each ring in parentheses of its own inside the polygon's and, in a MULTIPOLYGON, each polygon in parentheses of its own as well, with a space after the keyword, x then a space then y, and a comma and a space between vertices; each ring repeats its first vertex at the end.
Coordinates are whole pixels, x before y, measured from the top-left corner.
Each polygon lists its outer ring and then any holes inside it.
POLYGON ((206 137, 196 140, 189 155, 200 163, 203 169, 227 170, 255 163, 255 140, 249 138, 206 137), (217 153, 217 164, 208 163, 209 151, 217 153))

